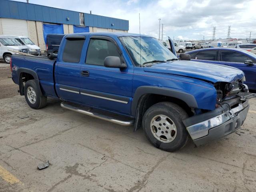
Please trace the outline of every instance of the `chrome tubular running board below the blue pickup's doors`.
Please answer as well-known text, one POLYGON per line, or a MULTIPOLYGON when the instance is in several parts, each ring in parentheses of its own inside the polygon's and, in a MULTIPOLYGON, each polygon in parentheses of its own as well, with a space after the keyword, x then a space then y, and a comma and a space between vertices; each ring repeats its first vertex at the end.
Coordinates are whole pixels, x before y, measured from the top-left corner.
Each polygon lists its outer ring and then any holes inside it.
POLYGON ((119 125, 123 125, 123 126, 130 126, 130 125, 134 124, 134 119, 128 120, 128 121, 118 120, 118 119, 115 119, 113 117, 106 116, 104 114, 100 114, 100 113, 97 113, 97 112, 91 112, 89 110, 83 110, 83 109, 80 109, 78 107, 71 106, 71 105, 69 105, 65 102, 62 102, 60 104, 60 106, 63 107, 63 108, 75 111, 75 112, 86 114, 88 116, 96 117, 96 118, 106 120, 106 121, 109 121, 109 122, 112 122, 112 123, 116 123, 116 124, 119 124, 119 125))

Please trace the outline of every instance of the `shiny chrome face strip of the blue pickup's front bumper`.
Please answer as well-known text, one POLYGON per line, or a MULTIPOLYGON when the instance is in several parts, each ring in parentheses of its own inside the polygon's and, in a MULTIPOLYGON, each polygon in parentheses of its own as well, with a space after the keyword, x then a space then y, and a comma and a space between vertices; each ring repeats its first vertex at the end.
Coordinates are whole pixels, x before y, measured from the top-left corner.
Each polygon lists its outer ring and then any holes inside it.
POLYGON ((237 107, 235 107, 229 111, 226 111, 218 116, 215 116, 215 117, 205 120, 203 122, 199 122, 197 124, 188 126, 188 127, 186 127, 186 129, 188 130, 192 140, 204 137, 204 136, 208 135, 209 129, 214 128, 216 126, 219 126, 219 125, 227 122, 228 120, 230 120, 231 118, 236 116, 238 112, 242 111, 247 106, 248 106, 248 100, 246 102, 244 102, 243 104, 240 103, 237 107))

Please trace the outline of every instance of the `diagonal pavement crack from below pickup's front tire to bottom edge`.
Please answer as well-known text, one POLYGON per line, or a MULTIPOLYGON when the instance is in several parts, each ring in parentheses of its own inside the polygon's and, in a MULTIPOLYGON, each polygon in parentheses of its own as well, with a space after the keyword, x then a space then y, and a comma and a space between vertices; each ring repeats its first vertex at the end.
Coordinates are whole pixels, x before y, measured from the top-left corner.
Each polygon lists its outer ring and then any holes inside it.
POLYGON ((138 182, 136 185, 134 185, 132 188, 130 188, 130 190, 128 190, 127 192, 134 192, 137 191, 139 192, 144 186, 146 186, 146 184, 148 183, 148 178, 149 176, 154 172, 154 170, 160 165, 160 163, 162 163, 164 160, 166 160, 166 158, 168 156, 170 156, 171 154, 166 155, 163 158, 160 158, 160 160, 158 160, 156 162, 156 164, 151 168, 151 170, 149 170, 146 175, 143 177, 142 182, 138 182))

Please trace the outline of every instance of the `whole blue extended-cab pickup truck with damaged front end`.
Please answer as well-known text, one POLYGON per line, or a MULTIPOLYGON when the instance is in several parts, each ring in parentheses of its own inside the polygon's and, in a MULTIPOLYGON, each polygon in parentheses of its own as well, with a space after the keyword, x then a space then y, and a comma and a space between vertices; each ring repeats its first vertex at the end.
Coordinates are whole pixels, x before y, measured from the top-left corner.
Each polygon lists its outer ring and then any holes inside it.
POLYGON ((157 148, 175 151, 226 136, 246 119, 244 73, 176 57, 156 38, 129 33, 64 36, 58 55, 13 55, 12 79, 31 108, 47 97, 61 106, 121 125, 143 128, 157 148))

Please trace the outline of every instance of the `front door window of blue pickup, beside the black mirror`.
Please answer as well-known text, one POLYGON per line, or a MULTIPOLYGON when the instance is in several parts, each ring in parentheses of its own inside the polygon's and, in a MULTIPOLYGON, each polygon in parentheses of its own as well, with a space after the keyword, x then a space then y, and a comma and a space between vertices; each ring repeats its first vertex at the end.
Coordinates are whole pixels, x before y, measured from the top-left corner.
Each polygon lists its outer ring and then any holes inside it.
POLYGON ((108 40, 91 39, 86 56, 86 64, 104 66, 104 60, 107 56, 120 57, 116 45, 108 40))

